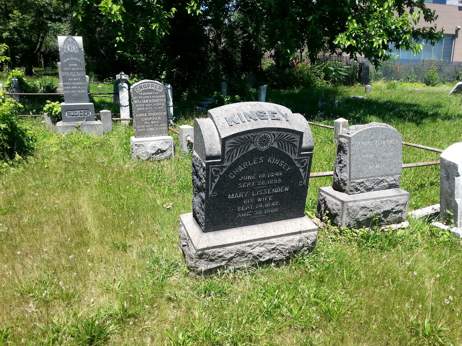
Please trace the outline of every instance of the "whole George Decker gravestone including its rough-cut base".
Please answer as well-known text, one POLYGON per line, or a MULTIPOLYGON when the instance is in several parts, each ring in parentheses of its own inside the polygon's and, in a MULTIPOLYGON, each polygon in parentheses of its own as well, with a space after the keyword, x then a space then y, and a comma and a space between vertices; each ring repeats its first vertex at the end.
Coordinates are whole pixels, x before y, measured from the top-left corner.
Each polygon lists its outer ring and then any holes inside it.
POLYGON ((410 194, 399 188, 401 133, 370 123, 350 126, 337 138, 333 183, 319 188, 318 218, 348 228, 405 221, 410 194))

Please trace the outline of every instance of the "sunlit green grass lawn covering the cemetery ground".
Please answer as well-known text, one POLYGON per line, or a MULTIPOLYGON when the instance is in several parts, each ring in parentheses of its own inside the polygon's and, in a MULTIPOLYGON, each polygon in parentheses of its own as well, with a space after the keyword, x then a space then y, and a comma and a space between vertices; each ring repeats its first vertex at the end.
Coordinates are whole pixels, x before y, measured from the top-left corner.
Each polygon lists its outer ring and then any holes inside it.
MULTIPOLYGON (((329 125, 384 121, 405 141, 444 149, 462 140, 449 89, 374 84, 364 101, 349 99, 361 87, 269 90, 267 101, 329 125), (319 116, 320 92, 344 102, 319 116)), ((111 109, 99 100, 97 110, 111 109)), ((204 116, 192 105, 175 104, 178 125, 204 116)), ((194 278, 177 247, 191 155, 135 162, 131 126, 60 136, 22 121, 38 142, 0 175, 0 346, 462 344, 462 248, 426 220, 390 232, 328 227, 308 256, 194 278)), ((312 131, 311 171, 333 170, 332 130, 312 131)), ((405 163, 437 159, 403 148, 405 163)), ((310 180, 307 215, 331 183, 310 180)), ((438 166, 404 170, 401 188, 411 209, 438 203, 438 166)))

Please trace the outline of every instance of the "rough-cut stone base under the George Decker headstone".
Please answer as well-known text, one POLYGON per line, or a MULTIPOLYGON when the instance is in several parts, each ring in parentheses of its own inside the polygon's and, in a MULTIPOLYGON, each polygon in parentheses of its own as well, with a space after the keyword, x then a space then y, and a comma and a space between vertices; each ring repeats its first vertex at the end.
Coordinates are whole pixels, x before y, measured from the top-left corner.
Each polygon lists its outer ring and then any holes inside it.
POLYGON ((347 195, 331 186, 320 187, 317 217, 328 216, 340 227, 360 228, 371 225, 373 217, 378 225, 391 225, 406 220, 409 192, 388 189, 347 195))

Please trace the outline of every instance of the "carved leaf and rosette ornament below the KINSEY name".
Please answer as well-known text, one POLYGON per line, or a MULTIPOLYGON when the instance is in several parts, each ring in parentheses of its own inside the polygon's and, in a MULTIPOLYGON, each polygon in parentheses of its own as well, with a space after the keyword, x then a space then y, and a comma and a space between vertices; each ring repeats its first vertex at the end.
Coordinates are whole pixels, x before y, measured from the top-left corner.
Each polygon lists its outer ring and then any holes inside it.
POLYGON ((284 132, 261 132, 237 137, 226 144, 225 161, 232 162, 251 149, 257 148, 263 151, 270 146, 295 157, 298 154, 298 140, 298 136, 284 132))

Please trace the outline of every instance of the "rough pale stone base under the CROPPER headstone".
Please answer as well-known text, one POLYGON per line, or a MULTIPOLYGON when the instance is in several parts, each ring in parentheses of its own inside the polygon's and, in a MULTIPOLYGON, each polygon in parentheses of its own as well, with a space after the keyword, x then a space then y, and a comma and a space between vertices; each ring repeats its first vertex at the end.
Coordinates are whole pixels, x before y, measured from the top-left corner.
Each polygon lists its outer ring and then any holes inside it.
POLYGON ((132 160, 164 160, 175 156, 175 142, 171 136, 130 137, 132 160))

